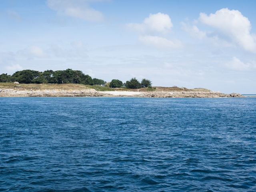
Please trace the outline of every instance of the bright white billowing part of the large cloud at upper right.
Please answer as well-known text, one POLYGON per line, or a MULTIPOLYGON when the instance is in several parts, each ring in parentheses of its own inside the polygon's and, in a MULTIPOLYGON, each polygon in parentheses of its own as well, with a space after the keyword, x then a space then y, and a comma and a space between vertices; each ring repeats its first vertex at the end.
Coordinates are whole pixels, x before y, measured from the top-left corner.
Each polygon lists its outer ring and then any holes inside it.
POLYGON ((200 13, 199 21, 217 29, 245 50, 256 52, 256 38, 250 33, 250 21, 238 10, 223 8, 209 16, 200 13))

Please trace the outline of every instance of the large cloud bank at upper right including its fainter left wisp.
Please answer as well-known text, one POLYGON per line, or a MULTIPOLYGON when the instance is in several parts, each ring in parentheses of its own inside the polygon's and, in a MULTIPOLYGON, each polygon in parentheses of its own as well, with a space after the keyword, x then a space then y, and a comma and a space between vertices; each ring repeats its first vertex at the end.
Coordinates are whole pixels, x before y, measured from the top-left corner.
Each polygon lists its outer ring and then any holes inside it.
POLYGON ((202 31, 198 26, 190 26, 185 22, 181 22, 182 29, 199 39, 208 39, 215 44, 218 42, 221 46, 239 46, 256 53, 256 35, 251 33, 251 23, 240 11, 222 8, 209 15, 200 13, 197 21, 213 31, 202 31))

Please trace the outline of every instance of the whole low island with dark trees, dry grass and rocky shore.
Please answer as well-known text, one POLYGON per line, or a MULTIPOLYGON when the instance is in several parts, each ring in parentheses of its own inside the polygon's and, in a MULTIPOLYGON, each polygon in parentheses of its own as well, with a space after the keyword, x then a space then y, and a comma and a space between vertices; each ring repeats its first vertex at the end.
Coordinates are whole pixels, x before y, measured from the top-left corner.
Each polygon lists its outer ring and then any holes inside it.
POLYGON ((106 82, 91 78, 78 70, 17 71, 0 75, 0 97, 147 97, 147 98, 221 98, 244 97, 224 94, 205 88, 152 86, 152 82, 136 78, 123 83, 118 79, 106 82))

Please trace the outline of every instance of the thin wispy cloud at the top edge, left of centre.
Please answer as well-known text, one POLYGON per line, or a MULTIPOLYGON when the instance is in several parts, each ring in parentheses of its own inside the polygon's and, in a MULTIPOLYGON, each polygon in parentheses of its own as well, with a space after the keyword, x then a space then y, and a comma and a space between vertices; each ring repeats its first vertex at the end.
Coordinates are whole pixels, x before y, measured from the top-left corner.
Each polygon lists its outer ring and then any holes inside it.
POLYGON ((104 20, 103 14, 90 7, 91 2, 98 1, 100 0, 47 0, 47 5, 58 14, 98 22, 104 20))

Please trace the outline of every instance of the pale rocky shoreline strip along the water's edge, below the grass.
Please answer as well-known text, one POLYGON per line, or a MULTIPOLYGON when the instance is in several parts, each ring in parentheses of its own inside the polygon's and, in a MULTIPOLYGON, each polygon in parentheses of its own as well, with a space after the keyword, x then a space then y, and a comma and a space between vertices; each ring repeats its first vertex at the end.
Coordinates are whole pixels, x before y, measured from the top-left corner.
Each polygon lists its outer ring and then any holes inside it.
POLYGON ((0 88, 0 97, 146 97, 146 98, 221 98, 244 97, 241 94, 223 94, 214 91, 96 91, 79 90, 20 90, 0 88))

